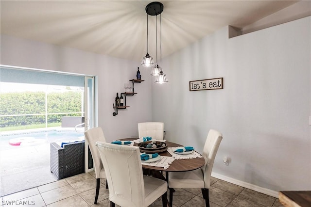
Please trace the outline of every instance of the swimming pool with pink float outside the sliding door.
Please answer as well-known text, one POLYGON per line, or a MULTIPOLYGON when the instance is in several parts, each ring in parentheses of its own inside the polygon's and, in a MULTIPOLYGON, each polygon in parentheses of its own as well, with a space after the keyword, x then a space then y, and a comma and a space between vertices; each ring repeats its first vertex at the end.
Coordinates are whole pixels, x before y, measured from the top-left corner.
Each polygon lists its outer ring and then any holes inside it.
POLYGON ((72 130, 44 130, 0 135, 0 150, 17 149, 47 143, 84 139, 84 132, 72 130))

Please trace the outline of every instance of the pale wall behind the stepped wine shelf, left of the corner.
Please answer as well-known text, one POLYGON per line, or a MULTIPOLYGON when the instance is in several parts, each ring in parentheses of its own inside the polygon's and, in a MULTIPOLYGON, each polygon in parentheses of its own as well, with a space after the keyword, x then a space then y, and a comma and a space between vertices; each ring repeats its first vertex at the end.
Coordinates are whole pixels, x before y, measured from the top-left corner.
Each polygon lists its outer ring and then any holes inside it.
MULTIPOLYGON (((142 83, 135 84, 135 96, 128 96, 130 108, 113 116, 116 93, 124 92, 125 82, 136 79, 140 63, 111 58, 72 48, 44 44, 1 34, 0 64, 72 72, 98 77, 98 122, 107 141, 138 136, 138 122, 151 121, 149 70, 140 69, 142 83)), ((120 94, 119 94, 120 96, 120 94)))

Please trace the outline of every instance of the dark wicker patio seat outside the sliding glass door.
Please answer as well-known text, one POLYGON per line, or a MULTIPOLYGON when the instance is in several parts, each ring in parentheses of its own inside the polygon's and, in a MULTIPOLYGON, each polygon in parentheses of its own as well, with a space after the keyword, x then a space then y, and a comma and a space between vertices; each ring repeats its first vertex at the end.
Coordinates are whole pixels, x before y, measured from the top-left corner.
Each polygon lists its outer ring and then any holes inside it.
POLYGON ((61 147, 51 143, 51 173, 59 179, 85 173, 85 156, 83 142, 67 143, 61 147))

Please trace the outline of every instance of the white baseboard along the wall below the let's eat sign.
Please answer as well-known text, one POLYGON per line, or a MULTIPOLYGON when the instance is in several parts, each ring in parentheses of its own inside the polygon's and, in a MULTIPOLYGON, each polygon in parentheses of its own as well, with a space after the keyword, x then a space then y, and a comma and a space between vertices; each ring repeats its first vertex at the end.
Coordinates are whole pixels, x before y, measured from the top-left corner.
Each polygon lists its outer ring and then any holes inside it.
POLYGON ((231 177, 227 177, 225 175, 220 175, 217 173, 212 173, 211 176, 218 178, 218 179, 221 179, 221 180, 225 180, 229 183, 236 184, 238 186, 242 186, 244 188, 248 188, 248 189, 253 190, 253 191, 261 192, 263 194, 270 195, 270 196, 278 198, 278 192, 277 191, 272 191, 270 189, 262 188, 262 187, 259 187, 257 185, 253 185, 253 184, 250 184, 250 183, 247 183, 247 182, 244 182, 241 180, 237 180, 237 179, 234 179, 231 177))

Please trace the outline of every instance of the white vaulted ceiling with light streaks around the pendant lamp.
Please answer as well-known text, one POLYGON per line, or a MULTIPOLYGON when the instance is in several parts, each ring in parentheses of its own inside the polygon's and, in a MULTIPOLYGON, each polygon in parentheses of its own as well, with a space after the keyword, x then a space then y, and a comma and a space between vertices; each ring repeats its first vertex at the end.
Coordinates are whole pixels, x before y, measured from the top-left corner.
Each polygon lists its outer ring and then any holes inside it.
MULTIPOLYGON (((1 34, 140 61, 150 0, 1 0, 1 34)), ((227 25, 243 28, 297 1, 161 0, 162 57, 227 25)), ((155 59, 155 16, 149 16, 155 59)), ((159 57, 158 57, 159 58, 159 57)))

